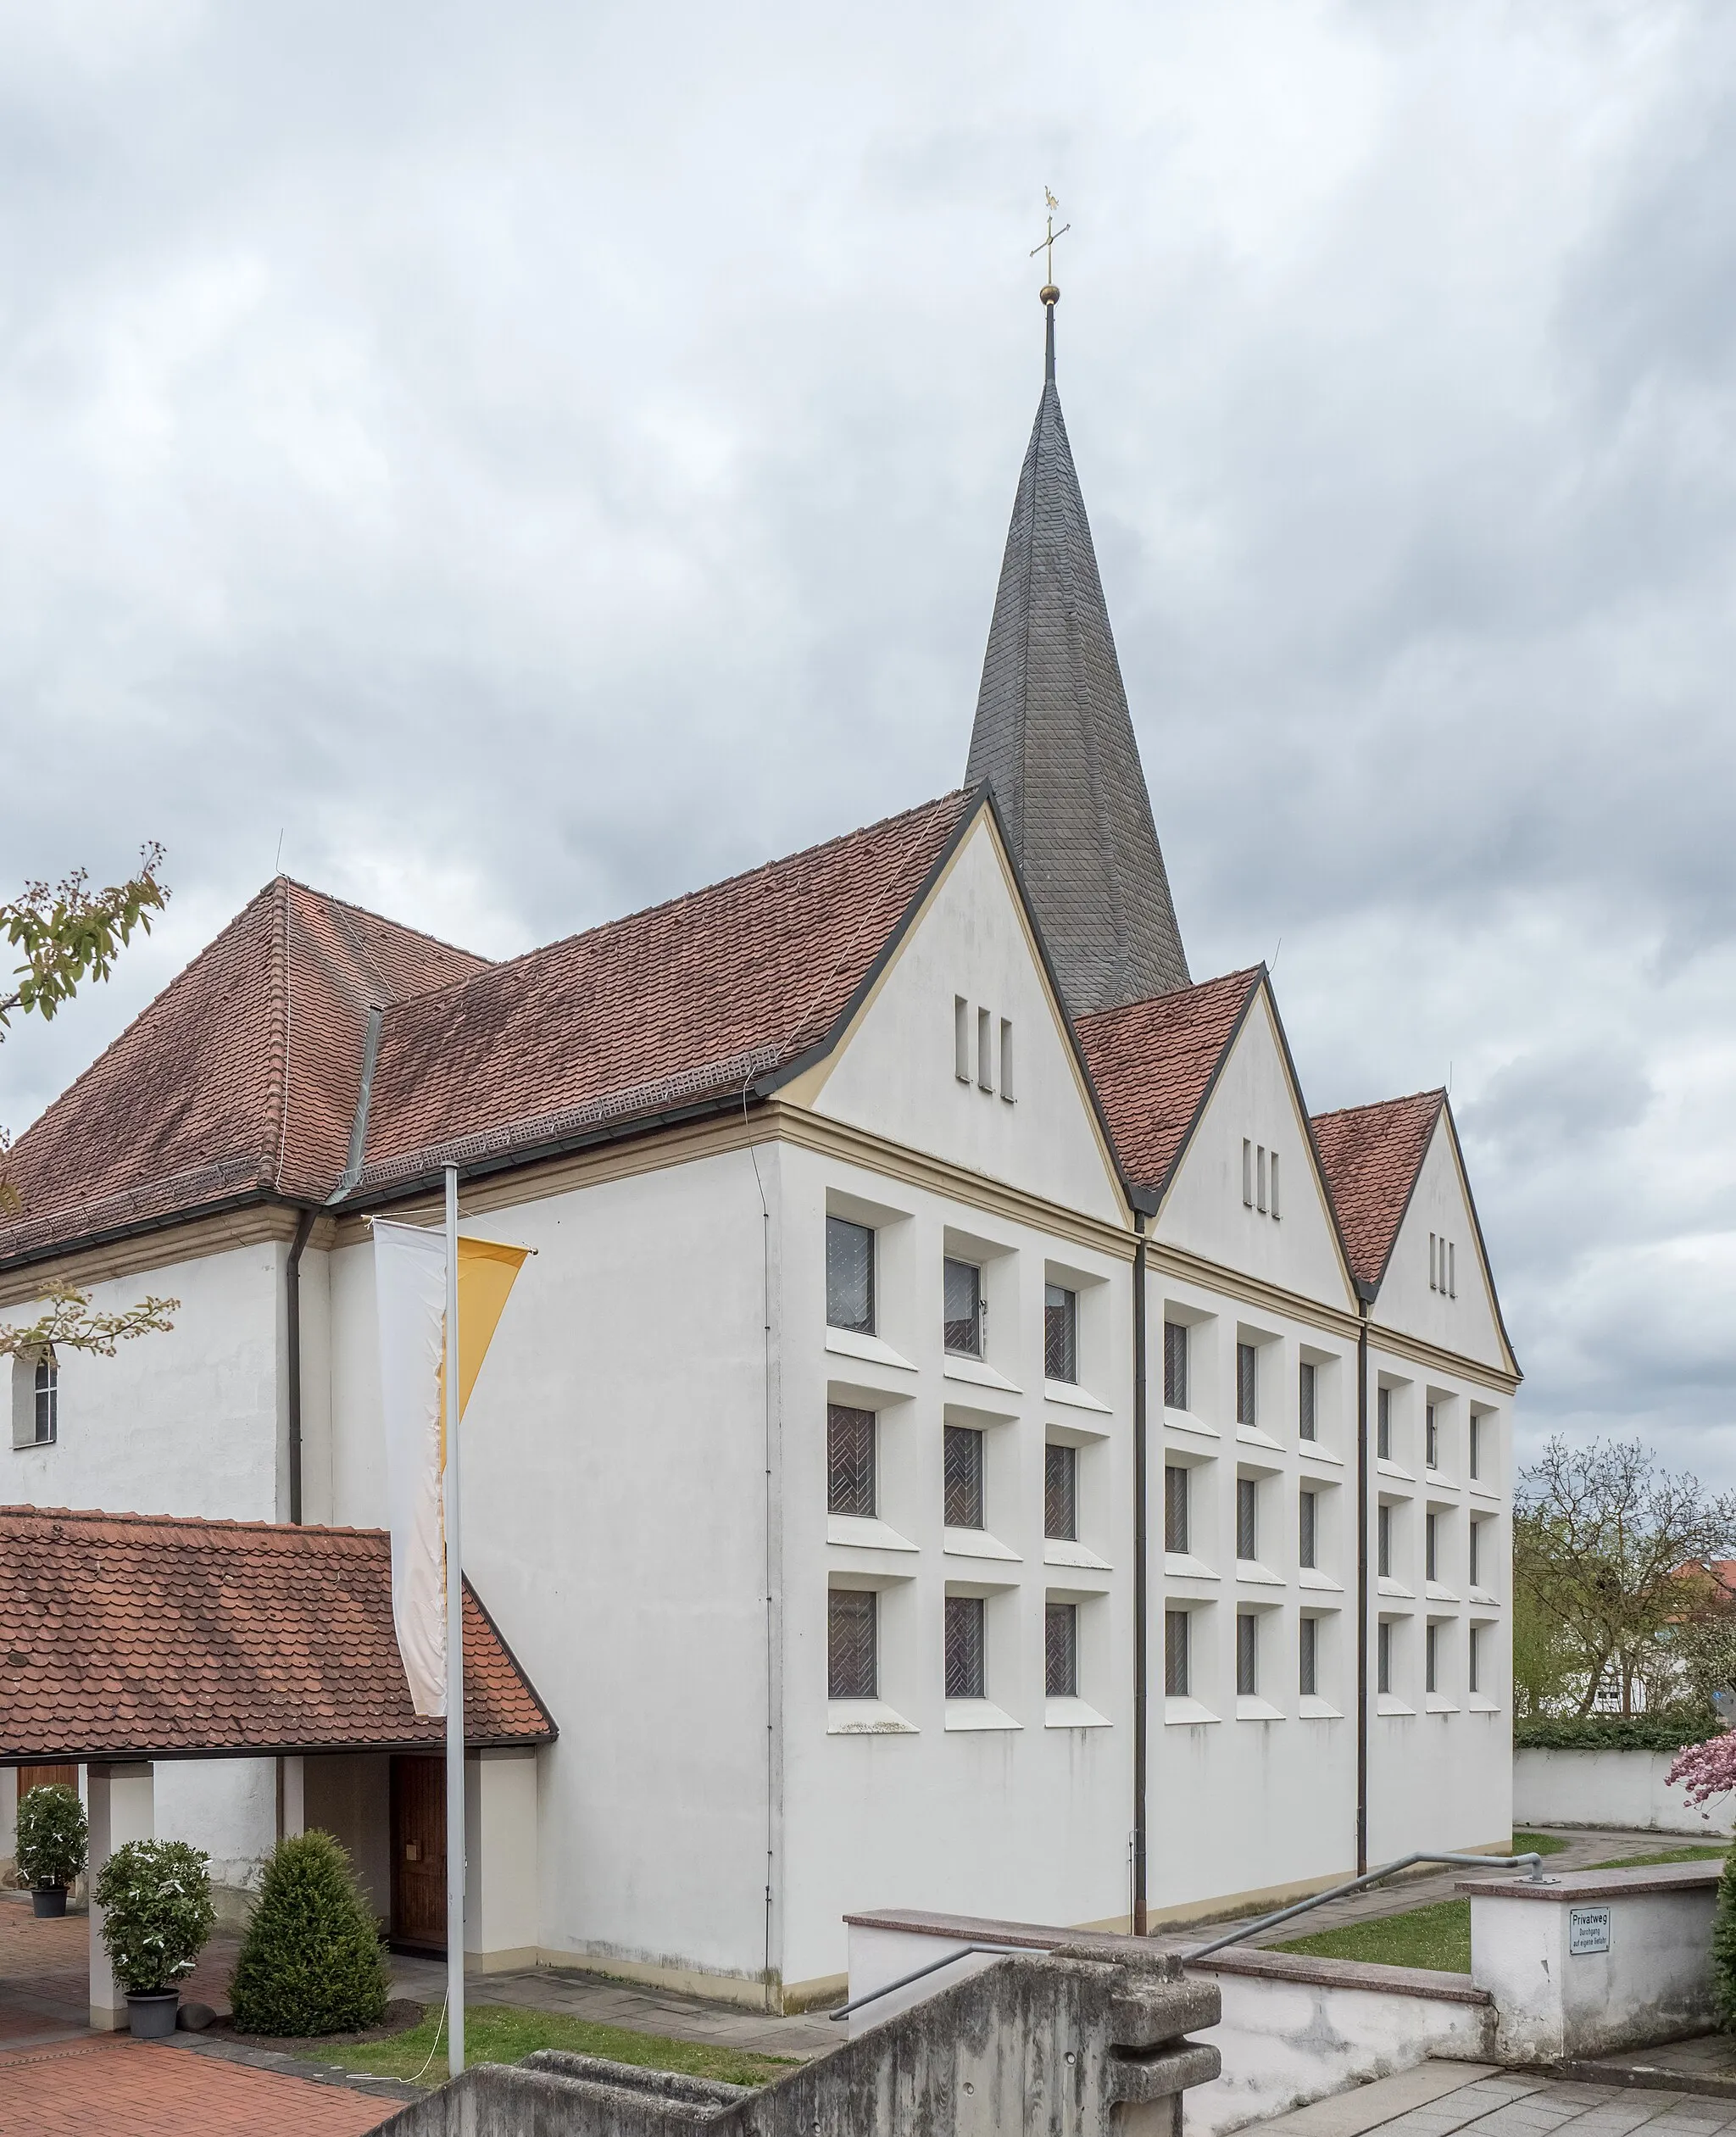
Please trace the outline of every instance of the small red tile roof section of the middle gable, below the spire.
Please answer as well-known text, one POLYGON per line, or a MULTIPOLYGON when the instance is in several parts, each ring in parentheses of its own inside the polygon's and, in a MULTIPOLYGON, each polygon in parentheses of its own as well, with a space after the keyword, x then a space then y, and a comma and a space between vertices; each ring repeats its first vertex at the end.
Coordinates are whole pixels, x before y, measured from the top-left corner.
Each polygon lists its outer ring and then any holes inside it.
POLYGON ((1122 1171, 1163 1192, 1266 966, 1080 1017, 1122 1171))

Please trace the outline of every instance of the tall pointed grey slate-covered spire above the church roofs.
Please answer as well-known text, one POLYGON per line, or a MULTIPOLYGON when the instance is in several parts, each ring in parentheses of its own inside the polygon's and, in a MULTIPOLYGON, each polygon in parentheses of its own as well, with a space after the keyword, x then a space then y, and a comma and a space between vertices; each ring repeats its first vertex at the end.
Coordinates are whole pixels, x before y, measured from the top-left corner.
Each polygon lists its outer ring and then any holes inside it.
POLYGON ((966 780, 988 780, 1073 1015, 1189 985, 1110 611, 1054 389, 1020 470, 966 780))

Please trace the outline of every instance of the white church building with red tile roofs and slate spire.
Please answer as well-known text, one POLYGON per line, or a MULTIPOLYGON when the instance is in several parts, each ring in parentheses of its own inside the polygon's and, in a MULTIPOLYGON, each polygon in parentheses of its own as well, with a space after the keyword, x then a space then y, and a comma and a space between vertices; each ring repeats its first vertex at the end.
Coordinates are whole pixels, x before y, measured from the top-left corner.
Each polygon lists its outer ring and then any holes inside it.
MULTIPOLYGON (((259 1530, 378 1566, 370 1218, 455 1163, 537 1248, 464 1423, 481 1970, 797 2009, 851 1913, 1146 1930, 1507 1844, 1518 1366, 1452 1109, 1313 1116, 1266 968, 1193 979, 1043 301, 958 791, 507 962, 280 876, 19 1139, 0 1312, 180 1306, 13 1363, 0 1502, 165 1517, 103 1549, 212 1622, 259 1530)), ((0 1684, 0 1855, 13 1772, 98 1769, 56 1712, 0 1684)), ((425 1731, 282 1744, 103 1757, 235 1893, 323 1825, 438 1945, 425 1731)))

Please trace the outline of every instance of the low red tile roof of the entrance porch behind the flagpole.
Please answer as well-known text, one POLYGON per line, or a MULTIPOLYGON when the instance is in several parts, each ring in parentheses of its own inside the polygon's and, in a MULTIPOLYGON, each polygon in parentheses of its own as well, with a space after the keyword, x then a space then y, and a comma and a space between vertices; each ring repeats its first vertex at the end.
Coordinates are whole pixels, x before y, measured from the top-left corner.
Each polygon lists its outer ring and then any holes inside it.
MULTIPOLYGON (((468 1581, 464 1725, 554 1737, 468 1581)), ((410 1707, 383 1530, 0 1507, 0 1763, 443 1742, 410 1707)))

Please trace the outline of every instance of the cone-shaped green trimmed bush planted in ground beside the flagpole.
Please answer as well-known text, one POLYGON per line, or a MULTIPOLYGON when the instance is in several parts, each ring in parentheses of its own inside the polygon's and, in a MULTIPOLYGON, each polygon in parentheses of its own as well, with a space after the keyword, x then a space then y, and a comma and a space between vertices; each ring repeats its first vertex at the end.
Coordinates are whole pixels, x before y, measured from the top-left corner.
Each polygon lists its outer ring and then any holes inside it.
POLYGON ((239 2032, 306 2039, 378 2026, 391 1981, 381 1934, 331 1834, 293 1834, 265 1863, 229 1983, 239 2032))

